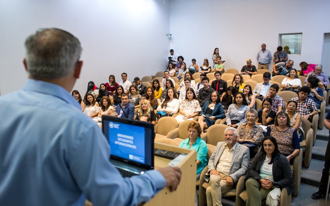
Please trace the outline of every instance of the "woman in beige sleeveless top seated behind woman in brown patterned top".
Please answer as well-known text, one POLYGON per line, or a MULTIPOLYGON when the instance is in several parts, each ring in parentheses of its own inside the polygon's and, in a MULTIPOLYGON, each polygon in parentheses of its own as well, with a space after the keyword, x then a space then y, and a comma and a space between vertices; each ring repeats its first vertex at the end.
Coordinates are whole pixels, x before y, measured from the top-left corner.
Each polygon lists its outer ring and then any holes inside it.
POLYGON ((298 103, 295 101, 289 101, 287 105, 287 114, 290 118, 290 124, 293 129, 298 131, 299 134, 299 142, 303 141, 305 132, 301 126, 301 115, 296 112, 298 103))

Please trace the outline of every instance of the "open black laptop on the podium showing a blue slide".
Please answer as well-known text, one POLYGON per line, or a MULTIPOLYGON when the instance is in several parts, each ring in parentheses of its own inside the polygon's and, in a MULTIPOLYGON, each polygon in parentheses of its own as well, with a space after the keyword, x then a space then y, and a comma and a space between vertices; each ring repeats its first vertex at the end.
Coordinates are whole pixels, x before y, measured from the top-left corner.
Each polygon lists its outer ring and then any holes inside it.
POLYGON ((110 161, 123 177, 153 169, 153 125, 102 115, 102 131, 110 145, 110 161))

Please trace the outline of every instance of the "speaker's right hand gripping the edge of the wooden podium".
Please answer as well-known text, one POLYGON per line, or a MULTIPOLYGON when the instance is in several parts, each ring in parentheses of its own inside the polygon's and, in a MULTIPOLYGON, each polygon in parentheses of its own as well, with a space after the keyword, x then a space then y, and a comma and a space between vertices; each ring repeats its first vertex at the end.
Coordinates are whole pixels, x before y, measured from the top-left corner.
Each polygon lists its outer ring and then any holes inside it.
POLYGON ((171 192, 177 190, 181 180, 181 169, 179 167, 164 167, 158 169, 166 180, 166 186, 170 186, 171 192))

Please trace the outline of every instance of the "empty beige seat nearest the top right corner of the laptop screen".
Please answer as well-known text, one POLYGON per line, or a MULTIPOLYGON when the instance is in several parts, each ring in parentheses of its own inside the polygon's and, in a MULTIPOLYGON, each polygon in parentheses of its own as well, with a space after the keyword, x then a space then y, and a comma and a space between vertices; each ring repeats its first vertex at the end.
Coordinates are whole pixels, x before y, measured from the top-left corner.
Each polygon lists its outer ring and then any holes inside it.
POLYGON ((162 117, 158 120, 155 125, 155 139, 156 142, 158 139, 166 138, 168 132, 178 128, 178 121, 174 117, 162 117))

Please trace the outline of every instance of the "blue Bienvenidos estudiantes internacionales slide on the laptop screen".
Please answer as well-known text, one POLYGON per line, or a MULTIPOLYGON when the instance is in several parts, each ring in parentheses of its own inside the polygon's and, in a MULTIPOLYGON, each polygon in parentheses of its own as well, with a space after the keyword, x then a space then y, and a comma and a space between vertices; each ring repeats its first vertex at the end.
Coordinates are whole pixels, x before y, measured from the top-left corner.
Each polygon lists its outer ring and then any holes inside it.
POLYGON ((145 128, 109 122, 111 155, 145 163, 145 128))

